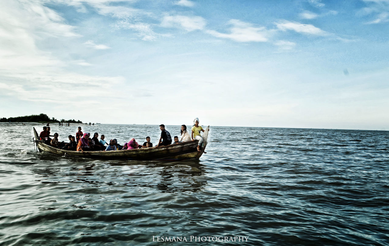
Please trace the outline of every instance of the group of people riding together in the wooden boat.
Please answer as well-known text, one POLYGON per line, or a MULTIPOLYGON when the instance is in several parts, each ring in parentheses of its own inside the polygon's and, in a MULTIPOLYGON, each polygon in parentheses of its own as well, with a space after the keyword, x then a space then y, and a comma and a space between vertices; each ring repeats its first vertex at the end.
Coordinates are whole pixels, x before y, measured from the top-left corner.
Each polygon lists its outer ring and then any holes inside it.
MULTIPOLYGON (((200 151, 200 146, 203 143, 203 138, 200 134, 201 131, 204 132, 203 127, 199 126, 199 119, 196 118, 193 120, 193 127, 191 131, 191 136, 187 132, 186 125, 181 126, 181 138, 179 140, 178 136, 174 136, 173 144, 187 142, 187 141, 195 141, 198 140, 197 150, 200 151)), ((158 144, 155 147, 166 146, 172 144, 172 137, 170 133, 165 129, 165 125, 159 125, 159 129, 161 130, 161 137, 159 138, 158 144)), ((93 134, 91 138, 90 133, 82 133, 81 126, 78 127, 78 131, 75 136, 69 135, 69 143, 65 143, 64 141, 58 141, 58 133, 54 133, 54 135, 50 135, 50 127, 44 126, 43 131, 39 134, 40 140, 44 141, 47 145, 51 145, 55 148, 60 148, 63 150, 71 150, 71 151, 112 151, 112 150, 131 150, 136 148, 151 148, 153 147, 150 142, 151 138, 149 136, 146 137, 146 141, 143 145, 139 145, 135 138, 132 138, 130 141, 126 142, 122 145, 117 143, 116 138, 111 139, 109 143, 105 141, 105 136, 101 135, 100 140, 98 139, 99 134, 93 134), (53 137, 53 138, 50 138, 53 137)))

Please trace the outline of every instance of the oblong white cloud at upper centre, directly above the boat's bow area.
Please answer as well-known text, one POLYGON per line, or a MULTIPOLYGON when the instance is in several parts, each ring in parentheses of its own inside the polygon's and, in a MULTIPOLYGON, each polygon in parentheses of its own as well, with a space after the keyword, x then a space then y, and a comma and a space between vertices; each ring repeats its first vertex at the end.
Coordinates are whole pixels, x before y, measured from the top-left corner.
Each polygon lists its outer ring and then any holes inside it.
POLYGON ((161 22, 162 27, 182 28, 186 31, 203 30, 205 19, 200 16, 165 16, 161 22))

